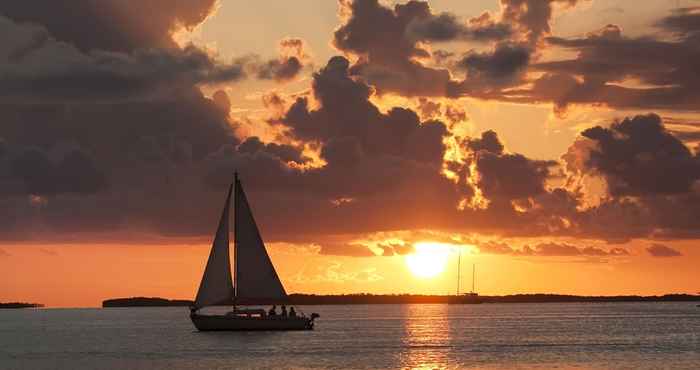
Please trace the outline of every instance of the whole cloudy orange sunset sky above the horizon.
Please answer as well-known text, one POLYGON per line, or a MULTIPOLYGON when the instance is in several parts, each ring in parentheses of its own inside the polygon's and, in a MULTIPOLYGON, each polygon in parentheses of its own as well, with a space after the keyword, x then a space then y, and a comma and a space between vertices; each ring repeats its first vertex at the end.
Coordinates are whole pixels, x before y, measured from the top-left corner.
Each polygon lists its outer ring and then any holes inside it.
POLYGON ((700 2, 0 5, 0 301, 697 293, 700 2), (460 257, 461 256, 461 257, 460 257))

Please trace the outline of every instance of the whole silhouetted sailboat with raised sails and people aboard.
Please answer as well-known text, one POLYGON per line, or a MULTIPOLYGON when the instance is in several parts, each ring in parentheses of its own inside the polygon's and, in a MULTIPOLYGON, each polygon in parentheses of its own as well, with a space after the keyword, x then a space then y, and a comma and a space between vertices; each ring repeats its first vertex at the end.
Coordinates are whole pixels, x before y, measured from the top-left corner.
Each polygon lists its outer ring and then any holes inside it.
POLYGON ((265 244, 253 218, 243 186, 234 176, 229 186, 219 227, 212 243, 209 260, 199 284, 197 297, 190 308, 192 323, 200 331, 211 330, 311 330, 319 315, 272 315, 264 309, 240 308, 239 305, 284 304, 287 292, 270 261, 265 244), (234 273, 229 256, 229 210, 234 197, 234 273), (233 305, 225 314, 205 314, 210 306, 233 305))

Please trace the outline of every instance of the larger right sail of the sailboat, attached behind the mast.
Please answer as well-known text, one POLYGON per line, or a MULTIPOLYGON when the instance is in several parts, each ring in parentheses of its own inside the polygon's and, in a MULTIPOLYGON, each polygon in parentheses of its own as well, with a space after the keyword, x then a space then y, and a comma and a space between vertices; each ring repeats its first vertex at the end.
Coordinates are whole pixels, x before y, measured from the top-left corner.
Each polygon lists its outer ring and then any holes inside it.
POLYGON ((284 302, 287 293, 265 250, 265 244, 238 178, 235 204, 236 302, 284 302))

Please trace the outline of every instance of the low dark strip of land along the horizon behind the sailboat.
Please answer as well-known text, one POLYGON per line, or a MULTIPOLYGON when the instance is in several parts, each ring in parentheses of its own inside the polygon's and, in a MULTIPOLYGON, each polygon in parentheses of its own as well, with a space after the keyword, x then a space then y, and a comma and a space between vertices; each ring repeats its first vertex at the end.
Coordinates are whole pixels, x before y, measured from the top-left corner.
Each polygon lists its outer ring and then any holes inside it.
MULTIPOLYGON (((450 303, 455 295, 418 294, 290 294, 294 305, 352 305, 352 304, 430 304, 450 303)), ((662 296, 577 296, 564 294, 513 294, 479 296, 482 303, 609 303, 609 302, 700 302, 700 295, 666 294, 662 296)), ((102 307, 189 307, 190 300, 170 300, 158 297, 114 298, 102 302, 102 307)))

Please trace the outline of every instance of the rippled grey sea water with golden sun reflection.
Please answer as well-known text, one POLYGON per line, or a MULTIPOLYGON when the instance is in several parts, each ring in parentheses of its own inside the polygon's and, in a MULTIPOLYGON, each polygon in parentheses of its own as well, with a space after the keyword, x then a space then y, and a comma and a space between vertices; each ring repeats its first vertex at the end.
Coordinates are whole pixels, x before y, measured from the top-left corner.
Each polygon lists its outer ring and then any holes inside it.
POLYGON ((200 333, 184 307, 0 310, 0 369, 700 369, 695 303, 306 306, 200 333))

